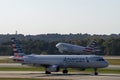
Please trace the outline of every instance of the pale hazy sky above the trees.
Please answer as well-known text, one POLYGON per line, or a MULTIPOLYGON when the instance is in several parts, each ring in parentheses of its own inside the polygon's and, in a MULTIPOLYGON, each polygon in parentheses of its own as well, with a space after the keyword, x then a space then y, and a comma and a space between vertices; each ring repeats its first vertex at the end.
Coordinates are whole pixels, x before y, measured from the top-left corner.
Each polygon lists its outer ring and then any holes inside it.
POLYGON ((0 0, 0 34, 120 33, 120 0, 0 0))

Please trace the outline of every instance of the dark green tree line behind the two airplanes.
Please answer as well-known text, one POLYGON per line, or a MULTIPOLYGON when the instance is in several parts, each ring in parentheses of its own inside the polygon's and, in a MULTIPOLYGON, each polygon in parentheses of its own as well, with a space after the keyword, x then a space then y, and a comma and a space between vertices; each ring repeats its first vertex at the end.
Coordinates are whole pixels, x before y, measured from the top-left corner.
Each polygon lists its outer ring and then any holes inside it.
MULTIPOLYGON (((73 35, 72 35, 73 36, 73 35)), ((12 37, 12 36, 11 36, 12 37)), ((46 40, 39 40, 39 39, 26 39, 20 38, 19 36, 13 36, 18 39, 20 46, 22 47, 23 51, 26 54, 61 54, 55 45, 58 42, 66 42, 81 46, 87 46, 87 44, 92 40, 96 39, 97 41, 97 48, 100 49, 99 52, 95 52, 93 54, 97 55, 120 55, 120 37, 107 37, 101 38, 96 35, 87 36, 83 39, 60 39, 54 41, 46 41, 46 40)), ((56 36, 58 37, 58 36, 56 36)), ((67 53, 66 53, 67 54, 67 53)), ((13 55, 11 41, 3 42, 0 45, 0 55, 13 55)))

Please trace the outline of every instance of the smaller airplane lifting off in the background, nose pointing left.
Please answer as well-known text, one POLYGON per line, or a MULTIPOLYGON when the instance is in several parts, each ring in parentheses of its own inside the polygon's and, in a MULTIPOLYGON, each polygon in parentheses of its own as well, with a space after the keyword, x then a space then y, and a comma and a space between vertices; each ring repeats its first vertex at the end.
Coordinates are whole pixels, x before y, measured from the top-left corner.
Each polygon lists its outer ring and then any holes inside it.
POLYGON ((86 47, 73 45, 73 44, 69 44, 69 43, 63 43, 63 42, 60 42, 60 43, 56 44, 56 47, 58 48, 60 53, 64 53, 64 52, 70 52, 70 53, 92 53, 92 52, 100 51, 100 50, 96 50, 95 49, 95 45, 96 45, 96 40, 94 39, 86 47))

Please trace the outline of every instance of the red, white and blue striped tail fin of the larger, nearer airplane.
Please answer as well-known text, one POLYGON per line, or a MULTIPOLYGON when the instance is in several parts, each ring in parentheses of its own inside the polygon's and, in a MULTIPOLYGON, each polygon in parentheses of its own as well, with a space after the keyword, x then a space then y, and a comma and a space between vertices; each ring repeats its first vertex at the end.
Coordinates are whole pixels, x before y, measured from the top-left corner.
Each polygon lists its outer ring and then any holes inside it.
POLYGON ((11 42, 12 42, 12 48, 13 48, 13 52, 14 52, 13 60, 17 61, 17 62, 23 61, 22 57, 24 56, 24 53, 23 53, 21 47, 19 46, 18 41, 15 38, 11 38, 11 42))

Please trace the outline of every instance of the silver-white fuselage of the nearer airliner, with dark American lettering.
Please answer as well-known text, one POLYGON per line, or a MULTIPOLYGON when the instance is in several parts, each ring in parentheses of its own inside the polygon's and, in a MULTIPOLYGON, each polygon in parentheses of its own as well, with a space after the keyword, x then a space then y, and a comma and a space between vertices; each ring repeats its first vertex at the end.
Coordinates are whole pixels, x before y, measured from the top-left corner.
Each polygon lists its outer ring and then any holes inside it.
POLYGON ((64 68, 103 68, 108 66, 107 61, 96 55, 28 55, 23 59, 24 64, 56 65, 64 68))

